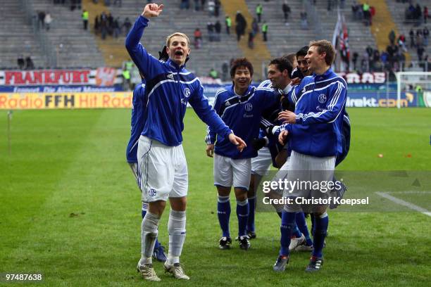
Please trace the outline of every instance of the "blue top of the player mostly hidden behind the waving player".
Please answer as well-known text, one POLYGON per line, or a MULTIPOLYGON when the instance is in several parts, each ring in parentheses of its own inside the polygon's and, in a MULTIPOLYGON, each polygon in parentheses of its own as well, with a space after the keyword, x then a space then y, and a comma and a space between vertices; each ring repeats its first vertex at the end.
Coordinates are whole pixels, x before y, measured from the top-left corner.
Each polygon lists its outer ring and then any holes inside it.
POLYGON ((137 162, 137 143, 144 129, 144 117, 146 112, 145 84, 137 84, 133 90, 132 118, 130 120, 130 139, 126 148, 127 162, 137 162))

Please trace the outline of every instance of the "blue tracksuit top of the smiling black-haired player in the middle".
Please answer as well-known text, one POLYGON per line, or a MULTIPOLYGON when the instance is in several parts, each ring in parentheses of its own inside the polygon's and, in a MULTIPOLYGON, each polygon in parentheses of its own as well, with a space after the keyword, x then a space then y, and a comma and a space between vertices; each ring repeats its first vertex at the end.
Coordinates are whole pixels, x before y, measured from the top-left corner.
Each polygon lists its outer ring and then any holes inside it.
POLYGON ((280 101, 280 94, 273 89, 250 86, 244 96, 235 94, 233 85, 219 89, 215 93, 213 109, 224 122, 240 136, 247 147, 240 153, 237 147, 220 136, 211 127, 208 129, 206 144, 214 144, 214 152, 228 158, 254 158, 257 151, 251 147, 251 140, 259 135, 259 123, 263 111, 280 101), (217 137, 216 137, 217 134, 217 137))

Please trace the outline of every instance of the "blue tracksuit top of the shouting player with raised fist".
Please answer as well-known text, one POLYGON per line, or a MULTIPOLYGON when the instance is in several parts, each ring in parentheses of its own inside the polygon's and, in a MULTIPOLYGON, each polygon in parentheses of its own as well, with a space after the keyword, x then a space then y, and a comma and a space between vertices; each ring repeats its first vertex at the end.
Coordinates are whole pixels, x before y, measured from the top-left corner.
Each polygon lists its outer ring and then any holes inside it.
POLYGON ((149 20, 139 16, 125 39, 125 46, 139 72, 146 79, 146 110, 142 135, 166 146, 182 143, 183 119, 187 103, 218 134, 227 138, 232 132, 211 109, 199 79, 172 60, 159 61, 139 43, 149 20))

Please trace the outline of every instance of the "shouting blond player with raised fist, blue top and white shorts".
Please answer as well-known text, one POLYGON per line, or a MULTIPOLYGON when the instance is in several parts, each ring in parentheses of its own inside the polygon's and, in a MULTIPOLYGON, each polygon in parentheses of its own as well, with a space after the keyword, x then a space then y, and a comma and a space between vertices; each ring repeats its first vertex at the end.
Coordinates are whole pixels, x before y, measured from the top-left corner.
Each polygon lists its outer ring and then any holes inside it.
POLYGON ((235 136, 211 109, 199 79, 185 69, 190 53, 189 38, 175 32, 166 39, 167 61, 151 56, 139 40, 150 18, 163 11, 163 4, 147 4, 125 40, 130 57, 146 79, 146 110, 144 129, 139 137, 137 160, 142 200, 149 203, 141 225, 142 256, 137 264, 142 277, 160 281, 152 264, 158 223, 170 201, 168 220, 169 249, 164 267, 177 279, 188 280, 180 265, 186 236, 186 203, 188 189, 187 162, 182 149, 183 118, 189 103, 201 120, 229 144, 242 151, 246 144, 235 136))

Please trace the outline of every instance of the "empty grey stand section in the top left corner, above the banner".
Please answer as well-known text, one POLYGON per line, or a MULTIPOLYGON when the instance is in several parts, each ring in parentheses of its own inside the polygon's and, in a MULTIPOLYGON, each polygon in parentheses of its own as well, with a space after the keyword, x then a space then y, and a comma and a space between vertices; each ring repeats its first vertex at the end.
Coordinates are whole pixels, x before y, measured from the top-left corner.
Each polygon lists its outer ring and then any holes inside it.
POLYGON ((21 55, 31 56, 36 68, 45 67, 46 56, 20 1, 1 1, 0 18, 0 67, 18 68, 17 59, 21 55))

